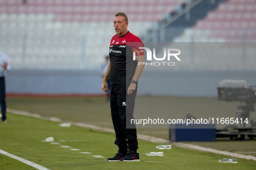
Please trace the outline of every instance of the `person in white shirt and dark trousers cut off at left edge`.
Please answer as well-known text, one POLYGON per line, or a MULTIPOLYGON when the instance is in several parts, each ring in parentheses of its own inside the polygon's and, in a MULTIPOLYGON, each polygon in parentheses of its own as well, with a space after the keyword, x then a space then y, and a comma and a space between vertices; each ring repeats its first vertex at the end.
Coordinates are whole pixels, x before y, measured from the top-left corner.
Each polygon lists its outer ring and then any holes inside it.
POLYGON ((0 104, 2 113, 2 122, 6 123, 6 102, 5 102, 5 74, 10 70, 7 56, 0 52, 0 104))

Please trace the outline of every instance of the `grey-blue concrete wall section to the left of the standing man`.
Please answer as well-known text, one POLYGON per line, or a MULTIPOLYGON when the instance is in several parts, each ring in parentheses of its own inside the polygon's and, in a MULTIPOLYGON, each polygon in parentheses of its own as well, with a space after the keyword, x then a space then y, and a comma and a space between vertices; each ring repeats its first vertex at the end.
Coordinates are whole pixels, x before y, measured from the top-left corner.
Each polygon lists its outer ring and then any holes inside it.
POLYGON ((15 69, 6 75, 11 94, 103 94, 100 72, 15 69))

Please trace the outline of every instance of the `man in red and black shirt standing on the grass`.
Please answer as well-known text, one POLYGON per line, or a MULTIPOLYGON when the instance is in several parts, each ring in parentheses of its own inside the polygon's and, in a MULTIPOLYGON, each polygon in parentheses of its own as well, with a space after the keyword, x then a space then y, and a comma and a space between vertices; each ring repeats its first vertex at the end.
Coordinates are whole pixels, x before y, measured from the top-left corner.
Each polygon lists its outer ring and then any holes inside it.
POLYGON ((139 47, 144 47, 144 44, 128 31, 128 17, 125 13, 116 13, 113 23, 117 34, 110 41, 110 62, 102 81, 102 90, 108 90, 107 79, 110 77, 111 117, 116 132, 115 144, 119 150, 107 161, 139 161, 136 126, 126 128, 126 116, 127 120, 133 119, 138 79, 144 68, 144 64, 138 63, 145 63, 143 50, 139 50, 139 47), (132 42, 137 43, 132 45, 132 42), (133 60, 133 51, 136 51, 136 60, 133 60))

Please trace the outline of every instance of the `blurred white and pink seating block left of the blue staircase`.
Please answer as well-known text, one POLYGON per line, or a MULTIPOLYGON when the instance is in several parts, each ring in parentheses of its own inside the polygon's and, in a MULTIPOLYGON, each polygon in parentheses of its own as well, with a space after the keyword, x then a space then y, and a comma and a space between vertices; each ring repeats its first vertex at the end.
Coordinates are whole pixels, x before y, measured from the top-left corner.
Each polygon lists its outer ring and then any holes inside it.
POLYGON ((115 34, 114 13, 127 13, 139 36, 185 1, 0 0, 0 51, 13 68, 100 68, 115 34))

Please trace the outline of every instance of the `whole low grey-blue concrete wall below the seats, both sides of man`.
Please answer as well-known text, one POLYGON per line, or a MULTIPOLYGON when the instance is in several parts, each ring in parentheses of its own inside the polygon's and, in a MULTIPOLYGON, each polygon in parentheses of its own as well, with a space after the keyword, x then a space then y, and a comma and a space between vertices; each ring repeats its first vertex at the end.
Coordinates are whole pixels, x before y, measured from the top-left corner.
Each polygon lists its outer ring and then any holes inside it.
MULTIPOLYGON (((143 71, 138 94, 216 97, 219 82, 244 79, 256 85, 256 71, 143 71)), ((100 71, 14 69, 6 75, 8 94, 101 95, 100 71)))

